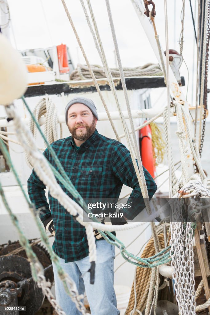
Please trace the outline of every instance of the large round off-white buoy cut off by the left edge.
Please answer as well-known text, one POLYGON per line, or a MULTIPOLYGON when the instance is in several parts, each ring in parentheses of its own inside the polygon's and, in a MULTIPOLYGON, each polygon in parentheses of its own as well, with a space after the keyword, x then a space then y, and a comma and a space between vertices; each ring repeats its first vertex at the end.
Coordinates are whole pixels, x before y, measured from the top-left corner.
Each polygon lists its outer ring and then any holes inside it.
POLYGON ((0 104, 7 105, 27 89, 27 69, 20 53, 0 33, 0 104))

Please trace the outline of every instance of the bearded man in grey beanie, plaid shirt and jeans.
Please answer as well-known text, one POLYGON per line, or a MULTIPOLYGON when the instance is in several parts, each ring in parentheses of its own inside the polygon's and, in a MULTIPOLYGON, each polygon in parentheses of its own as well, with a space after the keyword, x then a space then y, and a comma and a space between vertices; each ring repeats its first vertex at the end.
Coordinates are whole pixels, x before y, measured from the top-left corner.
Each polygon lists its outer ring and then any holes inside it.
MULTIPOLYGON (((120 142, 98 134, 98 114, 93 101, 85 97, 74 98, 66 106, 65 119, 72 136, 55 141, 52 148, 80 195, 84 199, 118 199, 122 185, 125 184, 133 188, 128 202, 134 198, 143 200, 128 149, 120 142)), ((44 151, 44 156, 55 166, 48 149, 44 151)), ((144 174, 149 198, 152 198, 157 186, 146 169, 144 174)), ((62 183, 58 183, 66 192, 62 183)), ((90 284, 85 228, 50 195, 49 208, 44 189, 45 185, 33 170, 28 179, 29 197, 37 209, 44 209, 40 212, 40 219, 45 228, 55 234, 53 249, 60 257, 62 267, 73 278, 79 294, 86 291, 91 315, 119 315, 113 286, 114 246, 103 238, 96 239, 95 283, 90 284)), ((125 209, 123 213, 127 219, 132 220, 138 214, 134 210, 125 209)), ((65 294, 55 266, 53 268, 58 304, 66 314, 79 315, 75 304, 65 294)))

